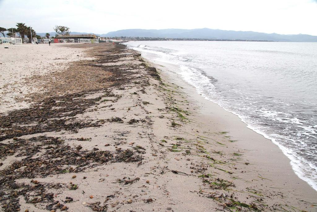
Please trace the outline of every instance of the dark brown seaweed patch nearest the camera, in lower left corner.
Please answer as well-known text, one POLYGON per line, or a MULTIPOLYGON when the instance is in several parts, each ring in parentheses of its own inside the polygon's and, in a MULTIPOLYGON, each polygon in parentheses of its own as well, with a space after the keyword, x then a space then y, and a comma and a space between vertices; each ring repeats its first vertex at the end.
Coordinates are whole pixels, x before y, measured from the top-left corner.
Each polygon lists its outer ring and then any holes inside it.
MULTIPOLYGON (((0 147, 4 152, 7 149, 14 149, 14 151, 19 152, 20 156, 27 156, 0 171, 0 195, 2 196, 0 203, 4 211, 19 209, 18 197, 20 195, 24 196, 27 203, 46 203, 46 209, 49 210, 64 207, 63 204, 54 201, 53 194, 46 193, 46 188, 59 185, 41 184, 32 180, 33 185, 30 186, 16 183, 16 179, 46 177, 51 174, 68 172, 76 173, 107 162, 138 162, 143 159, 141 155, 130 149, 117 149, 114 152, 81 150, 82 148, 65 145, 60 138, 45 136, 15 139, 12 143, 1 143, 0 147), (31 146, 37 146, 37 148, 29 148, 31 146), (41 154, 36 155, 38 153, 41 154), (65 166, 69 168, 65 168, 65 166)), ((69 189, 72 190, 74 187, 76 189, 77 185, 74 184, 69 189)), ((105 209, 104 206, 100 206, 98 211, 100 208, 105 209)))

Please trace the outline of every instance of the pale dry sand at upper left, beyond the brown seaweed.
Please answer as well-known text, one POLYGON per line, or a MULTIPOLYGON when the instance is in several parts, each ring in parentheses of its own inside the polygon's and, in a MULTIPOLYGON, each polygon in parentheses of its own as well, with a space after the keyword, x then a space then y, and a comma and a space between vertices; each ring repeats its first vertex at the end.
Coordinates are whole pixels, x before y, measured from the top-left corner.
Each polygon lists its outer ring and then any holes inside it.
POLYGON ((25 85, 26 78, 66 69, 71 61, 92 59, 87 57, 83 49, 65 48, 65 45, 0 46, 0 112, 29 106, 29 101, 19 101, 20 98, 45 88, 31 86, 31 83, 25 85))

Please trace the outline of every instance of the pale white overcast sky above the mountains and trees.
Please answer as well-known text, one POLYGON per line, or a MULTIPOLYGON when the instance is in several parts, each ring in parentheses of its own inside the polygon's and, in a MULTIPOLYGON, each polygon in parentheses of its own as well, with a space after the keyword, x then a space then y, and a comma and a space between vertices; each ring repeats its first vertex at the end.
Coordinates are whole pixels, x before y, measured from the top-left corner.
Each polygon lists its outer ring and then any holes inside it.
POLYGON ((0 0, 0 27, 36 32, 107 33, 122 29, 211 28, 317 36, 317 0, 0 0), (116 3, 118 2, 118 3, 116 3))

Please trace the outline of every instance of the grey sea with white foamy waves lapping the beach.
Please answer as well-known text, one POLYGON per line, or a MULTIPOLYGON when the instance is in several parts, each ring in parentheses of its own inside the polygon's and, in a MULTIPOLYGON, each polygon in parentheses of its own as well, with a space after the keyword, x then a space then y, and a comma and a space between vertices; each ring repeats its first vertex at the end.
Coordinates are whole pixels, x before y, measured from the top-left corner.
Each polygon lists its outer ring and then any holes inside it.
POLYGON ((136 41, 128 47, 178 74, 205 99, 277 144, 317 190, 317 43, 136 41))

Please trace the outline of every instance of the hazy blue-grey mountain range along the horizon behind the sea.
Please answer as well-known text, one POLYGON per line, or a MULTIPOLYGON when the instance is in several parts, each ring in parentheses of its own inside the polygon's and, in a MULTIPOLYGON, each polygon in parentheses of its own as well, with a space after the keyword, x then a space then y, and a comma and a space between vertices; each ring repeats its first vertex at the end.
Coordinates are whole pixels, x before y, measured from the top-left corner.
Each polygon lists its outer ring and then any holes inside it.
MULTIPOLYGON (((45 33, 36 33, 45 36, 45 33)), ((49 32, 55 36, 55 32, 49 32)), ((71 34, 93 34, 86 32, 71 32, 71 34)), ((317 42, 317 36, 312 35, 282 35, 276 33, 263 33, 253 31, 228 31, 203 29, 164 29, 164 30, 143 30, 128 29, 108 32, 106 34, 95 34, 101 37, 148 37, 148 38, 199 38, 199 39, 226 39, 226 40, 268 40, 281 42, 317 42)))

